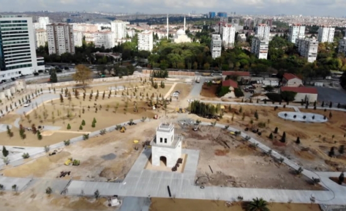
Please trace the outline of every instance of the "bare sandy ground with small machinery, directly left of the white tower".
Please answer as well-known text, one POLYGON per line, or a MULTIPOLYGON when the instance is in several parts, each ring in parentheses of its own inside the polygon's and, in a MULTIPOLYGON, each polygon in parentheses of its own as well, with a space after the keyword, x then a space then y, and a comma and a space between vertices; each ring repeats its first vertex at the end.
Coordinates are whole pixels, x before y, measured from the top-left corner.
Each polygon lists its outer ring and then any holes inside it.
POLYGON ((1 170, 9 177, 57 178, 61 171, 71 171, 62 179, 107 181, 124 179, 132 164, 142 151, 142 142, 150 141, 159 120, 128 126, 125 133, 113 131, 67 146, 56 155, 45 156, 20 166, 1 170), (133 141, 138 140, 135 144, 133 141), (135 146, 138 150, 135 150, 135 146), (80 160, 79 166, 64 165, 72 157, 80 160))

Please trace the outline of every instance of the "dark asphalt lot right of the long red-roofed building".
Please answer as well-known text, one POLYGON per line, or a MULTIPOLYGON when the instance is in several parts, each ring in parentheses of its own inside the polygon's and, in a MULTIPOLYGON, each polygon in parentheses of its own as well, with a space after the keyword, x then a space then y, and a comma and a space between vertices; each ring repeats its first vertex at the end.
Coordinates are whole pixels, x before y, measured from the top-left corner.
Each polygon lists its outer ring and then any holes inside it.
POLYGON ((318 98, 317 100, 319 102, 333 102, 333 104, 337 105, 340 104, 346 104, 346 91, 345 90, 338 90, 333 88, 326 88, 326 87, 316 87, 318 91, 318 98))

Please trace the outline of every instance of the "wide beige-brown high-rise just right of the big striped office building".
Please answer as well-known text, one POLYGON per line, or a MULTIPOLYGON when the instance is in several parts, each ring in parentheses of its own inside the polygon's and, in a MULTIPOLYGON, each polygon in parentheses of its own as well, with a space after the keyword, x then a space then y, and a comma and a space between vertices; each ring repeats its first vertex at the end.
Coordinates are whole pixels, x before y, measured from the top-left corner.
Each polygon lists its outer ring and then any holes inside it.
POLYGON ((74 54, 74 30, 67 23, 53 23, 47 25, 49 54, 74 54))

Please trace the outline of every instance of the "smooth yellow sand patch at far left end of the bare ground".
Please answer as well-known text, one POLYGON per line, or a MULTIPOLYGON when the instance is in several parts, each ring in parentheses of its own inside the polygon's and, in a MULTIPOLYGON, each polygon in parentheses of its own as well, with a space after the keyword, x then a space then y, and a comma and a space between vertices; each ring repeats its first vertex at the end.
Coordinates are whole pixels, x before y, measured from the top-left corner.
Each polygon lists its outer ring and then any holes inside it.
POLYGON ((41 157, 27 164, 19 165, 13 168, 4 169, 2 171, 7 177, 42 177, 49 169, 52 163, 64 162, 64 159, 69 157, 71 153, 60 152, 56 155, 41 157))

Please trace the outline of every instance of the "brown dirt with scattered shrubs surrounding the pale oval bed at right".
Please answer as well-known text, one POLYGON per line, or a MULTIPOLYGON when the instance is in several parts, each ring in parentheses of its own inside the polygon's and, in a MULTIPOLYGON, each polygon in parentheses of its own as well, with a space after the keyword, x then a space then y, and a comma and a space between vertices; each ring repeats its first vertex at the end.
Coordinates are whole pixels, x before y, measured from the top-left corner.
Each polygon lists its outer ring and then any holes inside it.
MULTIPOLYGON (((228 123, 232 127, 244 130, 246 127, 259 129, 261 136, 252 132, 247 132, 254 138, 262 141, 274 150, 301 164, 304 168, 319 171, 344 171, 346 157, 338 152, 341 145, 346 144, 344 134, 346 132, 345 112, 332 111, 332 118, 326 123, 306 123, 294 122, 277 117, 277 113, 282 111, 293 111, 293 109, 258 106, 232 106, 232 111, 225 109, 225 115, 221 122, 228 123), (239 112, 242 107, 242 113, 239 112), (256 120, 254 113, 257 110, 259 119, 256 120), (234 113, 234 116, 233 116, 234 113), (245 119, 243 120, 243 113, 245 119), (233 121, 231 120, 233 116, 233 121), (251 124, 252 120, 252 124, 251 124), (266 125, 259 127, 262 122, 266 125), (275 127, 278 127, 278 134, 274 134, 275 127), (280 142, 283 132, 286 133, 286 142, 280 142), (269 135, 273 133, 273 140, 269 135), (333 137, 334 135, 334 137, 333 137), (297 137, 300 144, 295 143, 297 137), (331 147, 335 147, 335 156, 330 158, 328 152, 331 147)), ((329 111, 313 109, 301 109, 301 112, 310 112, 329 117, 329 111)))

